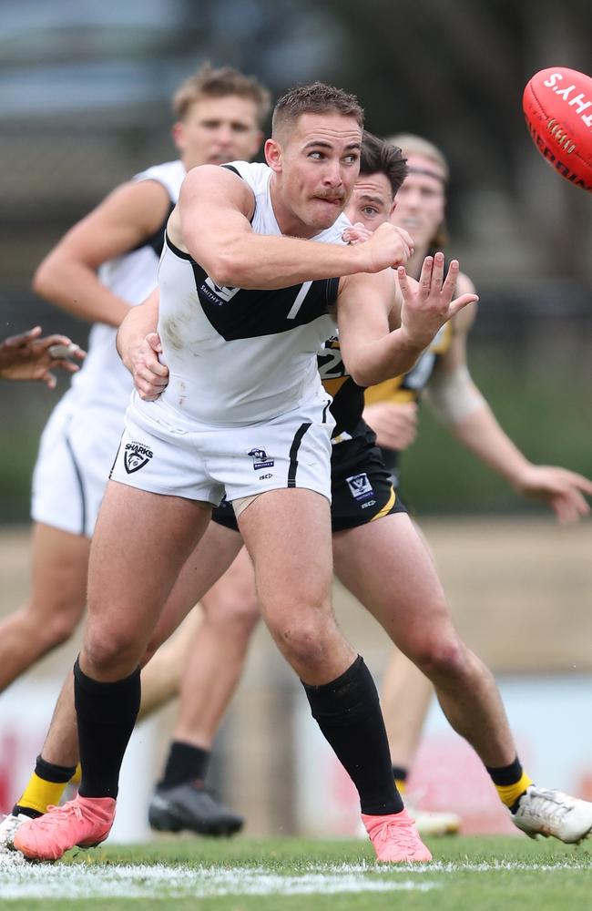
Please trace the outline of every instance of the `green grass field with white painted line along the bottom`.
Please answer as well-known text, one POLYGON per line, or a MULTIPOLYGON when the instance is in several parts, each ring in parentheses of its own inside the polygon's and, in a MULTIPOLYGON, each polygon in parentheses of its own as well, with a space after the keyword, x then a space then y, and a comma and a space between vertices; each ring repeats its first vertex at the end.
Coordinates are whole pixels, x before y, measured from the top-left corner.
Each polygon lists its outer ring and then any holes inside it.
POLYGON ((536 911, 592 908, 592 848, 459 837, 434 862, 385 868, 370 844, 171 839, 72 852, 56 865, 0 861, 3 911, 536 911))

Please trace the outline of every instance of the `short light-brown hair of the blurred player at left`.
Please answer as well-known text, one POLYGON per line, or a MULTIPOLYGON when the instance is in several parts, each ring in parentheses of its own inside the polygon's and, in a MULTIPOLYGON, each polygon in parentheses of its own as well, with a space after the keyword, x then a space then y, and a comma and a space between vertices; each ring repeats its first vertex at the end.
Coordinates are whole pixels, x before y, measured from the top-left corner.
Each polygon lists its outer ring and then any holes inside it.
POLYGON ((271 95, 267 88, 259 79, 245 76, 234 67, 215 69, 209 63, 199 67, 197 73, 181 83, 173 97, 173 112, 176 118, 182 120, 187 116, 191 105, 200 98, 224 98, 229 95, 238 95, 254 101, 257 107, 257 122, 260 127, 262 126, 271 107, 271 95))

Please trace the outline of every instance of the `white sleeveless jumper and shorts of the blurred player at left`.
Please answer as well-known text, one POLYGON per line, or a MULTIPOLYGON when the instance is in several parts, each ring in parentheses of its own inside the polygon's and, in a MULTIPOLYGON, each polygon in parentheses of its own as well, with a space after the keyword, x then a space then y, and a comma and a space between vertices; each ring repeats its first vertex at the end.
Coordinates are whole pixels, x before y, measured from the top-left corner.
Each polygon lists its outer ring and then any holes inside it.
MULTIPOLYGON (((161 183, 172 211, 184 177, 183 163, 168 161, 133 179, 161 183)), ((165 225, 166 220, 137 249, 98 271, 107 288, 130 304, 144 301, 157 284, 165 225)), ((75 535, 93 534, 133 388, 117 354, 116 334, 115 327, 100 322, 90 330, 87 357, 46 424, 33 475, 32 517, 75 535)))

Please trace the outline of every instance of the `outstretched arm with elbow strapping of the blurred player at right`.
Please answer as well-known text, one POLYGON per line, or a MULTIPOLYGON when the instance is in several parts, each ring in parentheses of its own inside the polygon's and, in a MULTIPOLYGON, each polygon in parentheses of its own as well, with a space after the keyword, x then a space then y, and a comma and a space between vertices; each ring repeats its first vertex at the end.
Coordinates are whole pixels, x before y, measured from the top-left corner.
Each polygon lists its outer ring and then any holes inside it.
MULTIPOLYGON (((472 288, 470 279, 461 274, 458 290, 472 288)), ((430 378, 426 403, 459 443, 504 476, 518 493, 546 502, 561 522, 586 516, 590 507, 583 495, 592 495, 592 483, 566 468, 530 462, 505 434, 473 382, 466 363, 466 340, 474 321, 475 307, 454 318, 453 343, 430 378)))

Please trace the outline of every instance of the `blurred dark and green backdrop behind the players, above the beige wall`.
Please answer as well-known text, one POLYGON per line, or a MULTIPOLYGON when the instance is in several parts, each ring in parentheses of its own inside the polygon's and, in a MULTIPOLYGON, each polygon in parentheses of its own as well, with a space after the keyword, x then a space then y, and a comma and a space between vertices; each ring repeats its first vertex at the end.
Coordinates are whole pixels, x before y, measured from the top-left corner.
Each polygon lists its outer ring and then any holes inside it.
MULTIPOLYGON (((367 125, 431 138, 452 169, 450 254, 475 281, 471 372, 534 461, 592 476, 592 200, 548 168, 521 112, 538 69, 589 71, 588 0, 3 0, 0 333, 87 326, 29 290, 37 263, 136 171, 175 157, 169 98, 209 59, 278 97, 319 78, 359 95, 367 125)), ((0 521, 28 517, 57 396, 0 387, 0 521)), ((534 510, 424 412, 404 456, 418 513, 534 510)))

